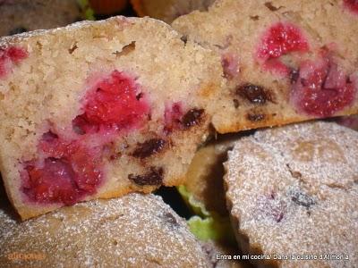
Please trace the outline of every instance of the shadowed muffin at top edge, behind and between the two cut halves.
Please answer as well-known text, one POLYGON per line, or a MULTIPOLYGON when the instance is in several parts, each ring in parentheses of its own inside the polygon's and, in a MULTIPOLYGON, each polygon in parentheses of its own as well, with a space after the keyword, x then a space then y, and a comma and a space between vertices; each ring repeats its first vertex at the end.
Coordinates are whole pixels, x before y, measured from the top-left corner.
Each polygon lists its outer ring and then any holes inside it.
POLYGON ((131 0, 133 9, 141 16, 149 16, 171 23, 177 17, 194 10, 205 11, 215 0, 131 0))

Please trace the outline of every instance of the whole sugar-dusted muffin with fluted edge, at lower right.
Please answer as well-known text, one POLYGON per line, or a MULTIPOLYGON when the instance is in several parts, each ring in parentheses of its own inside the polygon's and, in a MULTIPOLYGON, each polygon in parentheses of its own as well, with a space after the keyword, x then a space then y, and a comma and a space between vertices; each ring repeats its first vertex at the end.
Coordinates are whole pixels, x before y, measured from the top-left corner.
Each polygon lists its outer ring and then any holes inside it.
POLYGON ((358 132, 320 121, 239 140, 225 181, 244 252, 279 267, 357 266, 357 146, 358 132))

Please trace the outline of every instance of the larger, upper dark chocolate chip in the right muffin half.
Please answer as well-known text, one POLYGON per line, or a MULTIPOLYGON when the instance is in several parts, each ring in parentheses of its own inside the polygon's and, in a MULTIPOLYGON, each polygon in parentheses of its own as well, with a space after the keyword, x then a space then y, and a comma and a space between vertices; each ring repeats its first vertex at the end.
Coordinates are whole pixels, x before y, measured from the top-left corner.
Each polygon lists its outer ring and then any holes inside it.
POLYGON ((244 84, 243 86, 236 88, 236 94, 243 96, 255 105, 264 105, 266 101, 271 100, 271 96, 268 92, 260 86, 253 84, 244 84))

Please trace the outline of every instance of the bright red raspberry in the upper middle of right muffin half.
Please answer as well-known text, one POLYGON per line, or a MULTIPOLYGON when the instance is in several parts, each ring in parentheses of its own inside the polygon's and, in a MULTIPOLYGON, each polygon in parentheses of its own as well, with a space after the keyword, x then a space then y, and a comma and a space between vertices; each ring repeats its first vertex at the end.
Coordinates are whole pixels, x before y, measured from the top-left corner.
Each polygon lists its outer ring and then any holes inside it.
POLYGON ((268 70, 288 74, 288 68, 278 60, 284 54, 307 52, 309 45, 302 31, 292 23, 278 22, 270 27, 261 38, 257 57, 268 70))

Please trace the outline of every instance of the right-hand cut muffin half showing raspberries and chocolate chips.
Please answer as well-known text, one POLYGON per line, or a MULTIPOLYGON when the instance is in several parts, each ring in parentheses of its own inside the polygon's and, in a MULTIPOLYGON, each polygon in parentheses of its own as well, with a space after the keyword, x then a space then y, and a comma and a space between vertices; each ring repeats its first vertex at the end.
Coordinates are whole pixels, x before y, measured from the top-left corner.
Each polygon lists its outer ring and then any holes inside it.
POLYGON ((221 56, 228 84, 215 104, 215 128, 226 133, 358 113, 357 6, 218 0, 209 12, 176 19, 175 29, 221 56))

